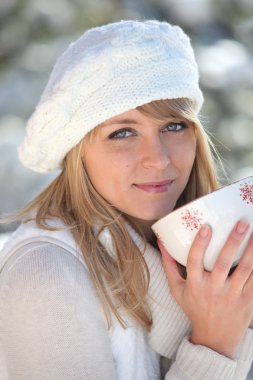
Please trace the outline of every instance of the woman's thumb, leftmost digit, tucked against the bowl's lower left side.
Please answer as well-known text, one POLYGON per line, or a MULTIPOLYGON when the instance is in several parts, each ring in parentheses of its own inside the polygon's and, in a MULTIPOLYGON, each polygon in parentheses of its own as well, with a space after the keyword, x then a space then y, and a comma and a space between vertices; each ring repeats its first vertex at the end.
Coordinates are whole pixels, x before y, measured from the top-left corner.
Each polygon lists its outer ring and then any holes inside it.
POLYGON ((181 287, 185 283, 185 280, 180 275, 176 260, 170 256, 160 240, 157 241, 157 244, 162 254, 163 268, 168 278, 171 293, 176 299, 178 299, 181 287))

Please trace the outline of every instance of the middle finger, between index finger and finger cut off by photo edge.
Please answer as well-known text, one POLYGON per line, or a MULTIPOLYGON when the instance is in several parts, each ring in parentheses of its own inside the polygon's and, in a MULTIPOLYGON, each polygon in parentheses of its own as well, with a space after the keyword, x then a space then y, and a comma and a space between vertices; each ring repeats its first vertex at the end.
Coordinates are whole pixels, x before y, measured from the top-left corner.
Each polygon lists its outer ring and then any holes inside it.
POLYGON ((234 262, 238 249, 249 229, 249 223, 239 220, 229 234, 221 253, 216 259, 212 277, 216 284, 224 283, 234 262))

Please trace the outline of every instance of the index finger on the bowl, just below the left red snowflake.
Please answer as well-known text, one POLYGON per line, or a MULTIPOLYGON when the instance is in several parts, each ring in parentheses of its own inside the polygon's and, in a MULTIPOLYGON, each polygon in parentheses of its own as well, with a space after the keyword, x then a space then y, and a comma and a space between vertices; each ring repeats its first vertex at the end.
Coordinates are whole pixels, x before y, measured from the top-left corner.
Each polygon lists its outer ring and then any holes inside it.
POLYGON ((187 278, 189 281, 201 281, 203 278, 204 254, 212 236, 212 230, 208 224, 203 224, 198 231, 187 258, 187 278))

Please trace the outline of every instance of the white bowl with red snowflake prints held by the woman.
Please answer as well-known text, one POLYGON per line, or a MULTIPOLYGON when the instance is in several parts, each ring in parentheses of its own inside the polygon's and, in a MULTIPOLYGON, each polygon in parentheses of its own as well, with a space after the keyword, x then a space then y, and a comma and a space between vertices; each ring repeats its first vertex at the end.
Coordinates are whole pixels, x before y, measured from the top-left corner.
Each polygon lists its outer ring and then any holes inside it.
POLYGON ((253 231, 253 176, 224 186, 176 209, 153 224, 152 229, 170 255, 186 266, 194 237, 202 224, 209 224, 212 239, 205 253, 204 268, 211 271, 239 219, 247 220, 250 228, 234 260, 234 266, 253 231))

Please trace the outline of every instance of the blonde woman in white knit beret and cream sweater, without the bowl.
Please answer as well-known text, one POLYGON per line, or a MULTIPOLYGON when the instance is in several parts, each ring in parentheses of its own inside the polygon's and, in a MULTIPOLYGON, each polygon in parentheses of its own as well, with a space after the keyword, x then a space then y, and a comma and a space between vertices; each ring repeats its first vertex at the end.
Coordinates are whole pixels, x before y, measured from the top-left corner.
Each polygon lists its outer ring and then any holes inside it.
POLYGON ((252 238, 228 272, 247 223, 212 273, 203 226, 186 279, 151 230, 217 187, 202 101, 189 39, 166 22, 91 29, 57 61, 20 157, 61 171, 1 253, 1 379, 246 378, 252 238))

